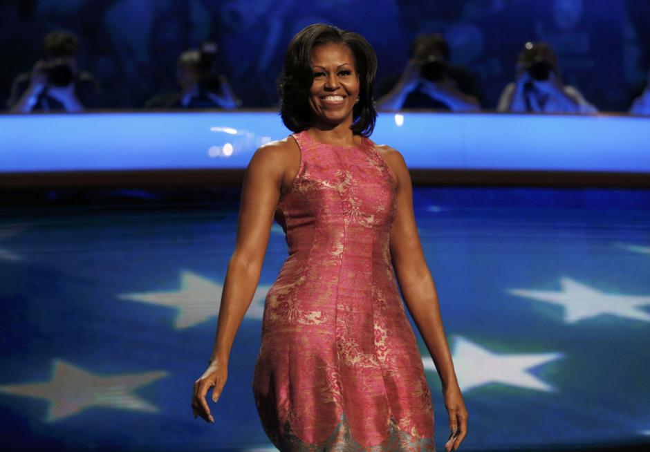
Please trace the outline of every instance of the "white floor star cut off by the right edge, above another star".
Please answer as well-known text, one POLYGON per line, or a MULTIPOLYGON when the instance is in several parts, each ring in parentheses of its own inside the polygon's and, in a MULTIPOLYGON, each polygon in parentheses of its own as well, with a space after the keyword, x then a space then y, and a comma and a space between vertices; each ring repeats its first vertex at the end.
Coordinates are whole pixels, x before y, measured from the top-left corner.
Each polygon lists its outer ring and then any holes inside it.
POLYGON ((650 305, 650 296, 608 294, 570 278, 561 278, 560 284, 562 287, 560 292, 526 289, 510 289, 508 292, 564 306, 564 321, 566 323, 575 323, 600 314, 650 321, 650 314, 639 309, 640 306, 650 305))

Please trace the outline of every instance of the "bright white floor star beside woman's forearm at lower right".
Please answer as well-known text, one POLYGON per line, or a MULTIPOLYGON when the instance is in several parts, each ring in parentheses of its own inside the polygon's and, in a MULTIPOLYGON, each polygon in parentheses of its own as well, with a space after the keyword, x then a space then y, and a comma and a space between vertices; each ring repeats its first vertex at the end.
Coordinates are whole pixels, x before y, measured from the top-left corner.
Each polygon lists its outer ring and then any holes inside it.
MULTIPOLYGON (((454 341, 454 368, 461 390, 467 391, 484 384, 501 383, 550 392, 553 386, 528 373, 528 369, 561 358, 561 353, 499 354, 490 352, 463 337, 454 341)), ((436 371, 431 357, 423 357, 425 369, 436 371)))

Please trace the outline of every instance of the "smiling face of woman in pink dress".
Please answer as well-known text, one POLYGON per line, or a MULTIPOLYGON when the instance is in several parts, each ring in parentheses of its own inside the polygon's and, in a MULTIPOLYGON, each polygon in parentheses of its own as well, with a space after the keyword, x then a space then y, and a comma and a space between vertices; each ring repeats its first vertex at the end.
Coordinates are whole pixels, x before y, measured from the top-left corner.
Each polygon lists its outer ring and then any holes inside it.
POLYGON ((345 44, 323 44, 311 52, 314 81, 309 105, 316 124, 352 124, 352 109, 359 95, 354 54, 345 44))

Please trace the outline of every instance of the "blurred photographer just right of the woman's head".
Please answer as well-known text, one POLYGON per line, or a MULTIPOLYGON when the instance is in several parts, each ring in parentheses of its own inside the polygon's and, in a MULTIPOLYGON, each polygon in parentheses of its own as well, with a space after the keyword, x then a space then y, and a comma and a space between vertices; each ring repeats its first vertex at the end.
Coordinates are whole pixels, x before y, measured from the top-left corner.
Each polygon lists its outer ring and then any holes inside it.
POLYGON ((400 79, 377 101, 377 109, 479 111, 476 77, 466 68, 449 63, 450 57, 451 50, 443 35, 416 37, 400 79))

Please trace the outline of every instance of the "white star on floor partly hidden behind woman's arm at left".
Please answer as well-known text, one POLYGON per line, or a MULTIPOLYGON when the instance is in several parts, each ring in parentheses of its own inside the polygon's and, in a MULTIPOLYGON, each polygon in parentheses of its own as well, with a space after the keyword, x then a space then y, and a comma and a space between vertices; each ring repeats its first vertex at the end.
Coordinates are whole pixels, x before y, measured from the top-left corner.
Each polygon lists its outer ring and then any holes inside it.
MULTIPOLYGON (((245 318, 262 319, 264 299, 269 288, 268 285, 259 285, 257 287, 245 318)), ((210 279, 198 276, 196 273, 181 270, 180 290, 120 294, 118 298, 176 308, 178 314, 174 319, 174 328, 181 330, 216 317, 219 314, 222 289, 221 284, 213 283, 210 279)))

